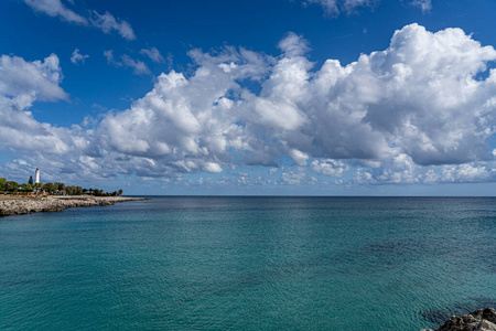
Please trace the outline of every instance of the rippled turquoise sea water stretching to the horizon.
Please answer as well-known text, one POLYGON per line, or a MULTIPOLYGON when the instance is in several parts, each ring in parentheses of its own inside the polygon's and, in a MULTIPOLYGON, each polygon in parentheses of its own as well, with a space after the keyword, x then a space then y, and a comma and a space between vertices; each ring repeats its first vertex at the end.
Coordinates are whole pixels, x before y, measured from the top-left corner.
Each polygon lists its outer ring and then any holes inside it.
POLYGON ((486 306, 490 197, 155 197, 0 218, 1 330, 419 330, 486 306))

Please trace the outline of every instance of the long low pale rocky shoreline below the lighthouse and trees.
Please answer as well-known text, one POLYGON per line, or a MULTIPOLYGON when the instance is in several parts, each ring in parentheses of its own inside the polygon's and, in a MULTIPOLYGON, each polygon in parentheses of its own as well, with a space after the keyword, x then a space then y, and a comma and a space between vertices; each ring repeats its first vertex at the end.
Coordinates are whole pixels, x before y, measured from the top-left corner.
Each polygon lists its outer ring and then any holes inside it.
POLYGON ((37 212, 60 212, 77 206, 112 205, 117 202, 149 200, 126 196, 44 196, 0 199, 0 216, 21 215, 37 212))

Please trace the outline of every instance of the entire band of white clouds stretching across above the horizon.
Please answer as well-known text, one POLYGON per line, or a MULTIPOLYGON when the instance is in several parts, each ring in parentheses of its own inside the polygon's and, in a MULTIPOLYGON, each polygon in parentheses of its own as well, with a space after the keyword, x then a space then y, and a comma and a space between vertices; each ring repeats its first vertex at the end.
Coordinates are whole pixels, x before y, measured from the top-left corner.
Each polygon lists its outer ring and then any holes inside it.
POLYGON ((3 170, 28 174, 36 164, 67 181, 205 172, 222 175, 218 185, 495 181, 493 46, 461 29, 419 24, 346 66, 315 67, 309 42, 294 33, 278 46, 278 56, 192 50, 192 73, 162 73, 129 109, 90 128, 55 127, 29 110, 36 100, 68 99, 57 55, 2 55, 0 145, 19 153, 3 170), (268 172, 250 179, 247 167, 268 172))

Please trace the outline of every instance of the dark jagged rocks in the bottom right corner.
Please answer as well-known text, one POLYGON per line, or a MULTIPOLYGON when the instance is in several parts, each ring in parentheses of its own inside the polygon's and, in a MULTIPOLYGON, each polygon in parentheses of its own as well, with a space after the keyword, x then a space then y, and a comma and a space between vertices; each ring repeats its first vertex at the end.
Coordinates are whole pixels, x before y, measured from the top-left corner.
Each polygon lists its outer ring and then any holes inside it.
MULTIPOLYGON (((423 329, 421 331, 432 331, 423 329)), ((496 310, 479 309, 462 317, 452 316, 435 331, 496 331, 496 310)))

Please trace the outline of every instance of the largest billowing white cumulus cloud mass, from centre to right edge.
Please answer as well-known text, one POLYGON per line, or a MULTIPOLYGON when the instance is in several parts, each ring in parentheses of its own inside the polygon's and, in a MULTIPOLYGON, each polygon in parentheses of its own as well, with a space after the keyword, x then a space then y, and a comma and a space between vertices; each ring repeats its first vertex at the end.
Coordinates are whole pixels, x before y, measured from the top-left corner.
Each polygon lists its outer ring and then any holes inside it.
POLYGON ((317 70, 300 36, 289 34, 280 47, 277 60, 233 49, 193 51, 194 75, 159 76, 130 109, 103 120, 101 143, 181 171, 229 164, 235 154, 241 164, 261 166, 283 154, 300 166, 322 158, 314 171, 328 174, 334 166, 325 160, 378 167, 398 150, 419 166, 494 158, 485 140, 494 134, 495 76, 476 75, 496 52, 462 30, 408 25, 385 51, 347 66, 328 60, 317 70), (261 79, 261 92, 244 88, 246 78, 261 79), (179 167, 185 159, 195 167, 179 167))

